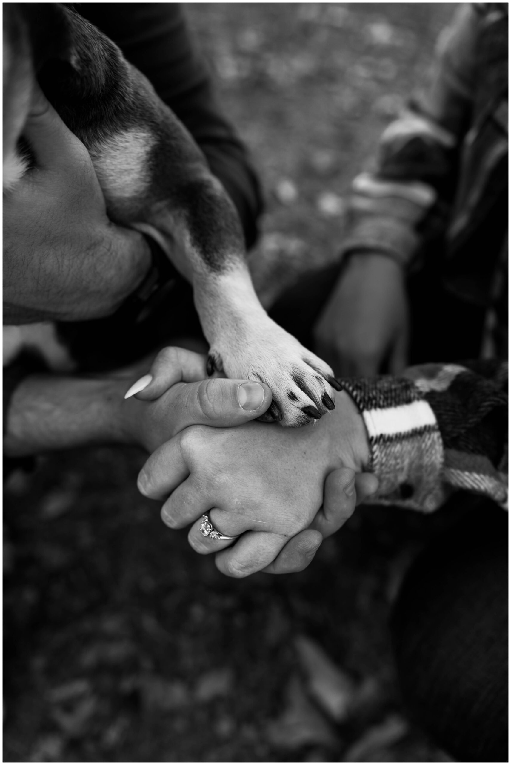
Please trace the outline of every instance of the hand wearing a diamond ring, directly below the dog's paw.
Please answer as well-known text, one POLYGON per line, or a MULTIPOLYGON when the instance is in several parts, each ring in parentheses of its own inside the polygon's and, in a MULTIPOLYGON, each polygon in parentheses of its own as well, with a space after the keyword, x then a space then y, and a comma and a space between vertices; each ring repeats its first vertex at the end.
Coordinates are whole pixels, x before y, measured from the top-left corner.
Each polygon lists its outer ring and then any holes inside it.
MULTIPOLYGON (((368 458, 361 415, 341 392, 335 410, 314 426, 186 428, 150 456, 138 486, 153 499, 170 494, 164 522, 177 529, 196 521, 192 547, 217 552, 220 571, 240 577, 270 565, 290 537, 308 529, 322 506, 328 473, 341 466, 361 471, 368 458), (229 541, 204 538, 203 513, 219 531, 241 539, 230 548, 229 541)), ((320 541, 316 533, 316 546, 320 541)))

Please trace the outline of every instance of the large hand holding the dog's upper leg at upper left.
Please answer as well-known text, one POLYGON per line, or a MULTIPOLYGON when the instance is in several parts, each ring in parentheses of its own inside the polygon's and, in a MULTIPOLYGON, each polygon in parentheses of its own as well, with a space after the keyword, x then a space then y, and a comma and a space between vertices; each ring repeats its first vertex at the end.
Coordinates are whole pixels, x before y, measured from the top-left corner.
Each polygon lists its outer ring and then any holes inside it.
POLYGON ((150 267, 147 243, 108 220, 88 151, 38 89, 24 137, 35 167, 4 195, 4 323, 112 314, 150 267))

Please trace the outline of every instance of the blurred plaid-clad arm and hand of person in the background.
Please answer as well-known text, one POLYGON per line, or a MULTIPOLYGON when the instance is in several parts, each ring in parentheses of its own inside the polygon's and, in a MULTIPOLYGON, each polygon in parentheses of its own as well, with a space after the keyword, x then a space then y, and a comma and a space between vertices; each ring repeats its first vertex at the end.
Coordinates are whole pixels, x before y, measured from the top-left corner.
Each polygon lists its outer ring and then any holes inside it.
POLYGON ((503 4, 458 8, 429 89, 383 132, 374 171, 353 181, 346 263, 315 330, 338 374, 406 366, 406 276, 424 259, 445 250, 451 288, 489 299, 506 231, 506 17, 503 4))

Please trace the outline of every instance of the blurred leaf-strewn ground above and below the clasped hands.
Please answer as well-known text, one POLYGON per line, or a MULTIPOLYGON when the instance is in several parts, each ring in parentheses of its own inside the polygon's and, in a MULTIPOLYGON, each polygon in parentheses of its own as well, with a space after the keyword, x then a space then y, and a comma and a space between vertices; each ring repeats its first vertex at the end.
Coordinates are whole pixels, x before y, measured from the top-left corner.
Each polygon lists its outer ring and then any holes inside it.
MULTIPOLYGON (((187 6, 264 182, 267 304, 337 255, 351 178, 454 8, 187 6)), ((448 760, 406 717, 387 631, 422 519, 358 509, 301 574, 235 581, 138 495, 143 461, 81 450, 8 481, 4 760, 448 760)))

